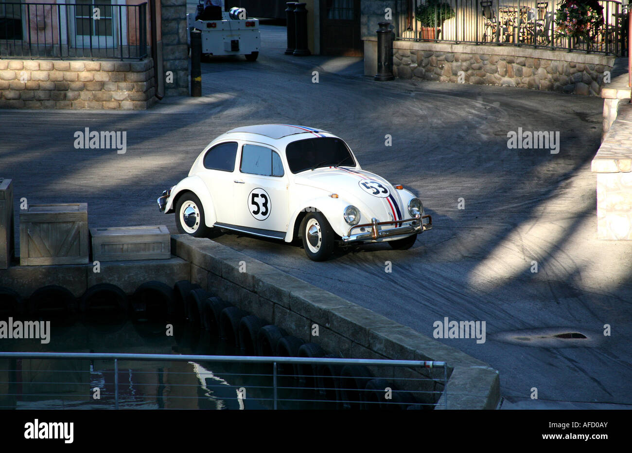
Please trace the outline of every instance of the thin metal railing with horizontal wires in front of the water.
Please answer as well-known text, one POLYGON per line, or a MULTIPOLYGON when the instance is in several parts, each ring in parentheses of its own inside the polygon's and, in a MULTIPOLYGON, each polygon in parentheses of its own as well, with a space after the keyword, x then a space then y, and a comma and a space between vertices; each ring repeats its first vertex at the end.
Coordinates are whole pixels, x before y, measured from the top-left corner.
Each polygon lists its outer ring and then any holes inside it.
POLYGON ((0 352, 0 409, 434 409, 446 384, 437 361, 0 352))

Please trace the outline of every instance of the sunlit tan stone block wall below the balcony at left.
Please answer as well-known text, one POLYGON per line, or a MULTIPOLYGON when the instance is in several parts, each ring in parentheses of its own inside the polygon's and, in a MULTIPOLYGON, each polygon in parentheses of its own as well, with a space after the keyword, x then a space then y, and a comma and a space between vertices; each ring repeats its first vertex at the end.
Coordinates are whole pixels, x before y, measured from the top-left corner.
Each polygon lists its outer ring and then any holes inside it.
POLYGON ((154 62, 0 59, 0 108, 146 109, 154 62))

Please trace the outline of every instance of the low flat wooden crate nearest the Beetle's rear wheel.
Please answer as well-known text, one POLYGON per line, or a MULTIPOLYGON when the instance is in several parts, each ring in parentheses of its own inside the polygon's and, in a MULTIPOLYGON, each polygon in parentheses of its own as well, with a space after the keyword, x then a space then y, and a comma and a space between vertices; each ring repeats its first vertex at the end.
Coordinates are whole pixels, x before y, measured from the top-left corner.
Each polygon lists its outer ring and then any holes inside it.
POLYGON ((171 235, 165 225, 90 228, 90 235, 95 261, 171 258, 171 235))

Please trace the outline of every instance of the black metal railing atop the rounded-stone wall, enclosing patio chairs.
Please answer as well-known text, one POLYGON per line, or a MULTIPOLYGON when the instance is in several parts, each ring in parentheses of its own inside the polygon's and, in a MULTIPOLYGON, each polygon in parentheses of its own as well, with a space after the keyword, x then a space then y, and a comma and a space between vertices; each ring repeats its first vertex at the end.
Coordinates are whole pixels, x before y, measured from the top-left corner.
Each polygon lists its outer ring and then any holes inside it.
POLYGON ((563 3, 563 0, 396 0, 394 33, 400 40, 626 54, 628 15, 620 1, 599 0, 604 23, 593 27, 585 38, 557 34, 556 15, 563 3))

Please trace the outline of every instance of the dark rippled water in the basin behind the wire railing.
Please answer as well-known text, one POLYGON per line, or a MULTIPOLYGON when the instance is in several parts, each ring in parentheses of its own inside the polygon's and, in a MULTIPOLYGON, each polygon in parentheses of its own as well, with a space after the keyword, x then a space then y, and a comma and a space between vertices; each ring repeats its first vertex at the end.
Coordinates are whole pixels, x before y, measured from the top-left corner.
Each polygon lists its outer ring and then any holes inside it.
MULTIPOLYGON (((173 335, 166 333, 166 323, 126 317, 52 320, 49 344, 2 339, 0 351, 241 355, 240 349, 186 323, 174 325, 173 335)), ((271 364, 118 361, 119 408, 272 409, 271 373, 271 364)), ((0 409, 113 409, 114 374, 112 360, 0 359, 0 409)), ((281 378, 279 384, 288 388, 279 396, 316 399, 296 383, 281 378)), ((280 402, 279 408, 323 404, 280 402)))

